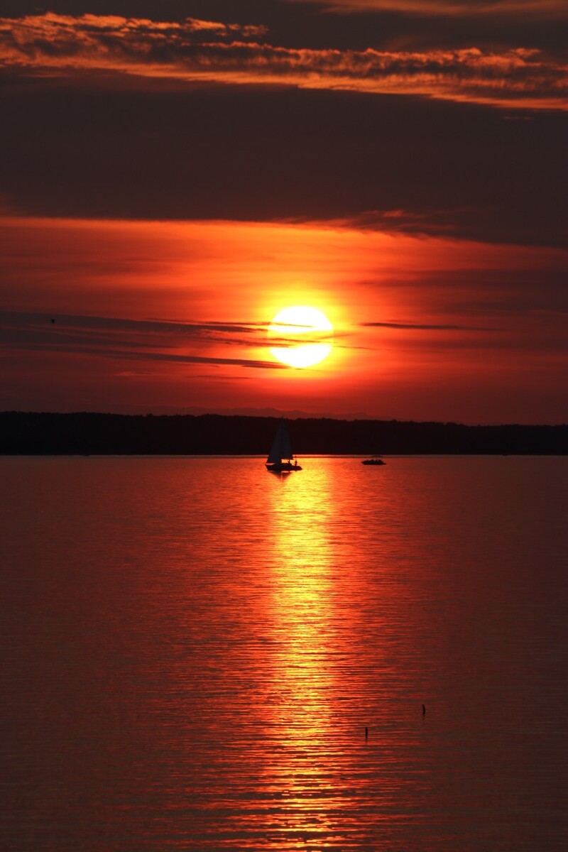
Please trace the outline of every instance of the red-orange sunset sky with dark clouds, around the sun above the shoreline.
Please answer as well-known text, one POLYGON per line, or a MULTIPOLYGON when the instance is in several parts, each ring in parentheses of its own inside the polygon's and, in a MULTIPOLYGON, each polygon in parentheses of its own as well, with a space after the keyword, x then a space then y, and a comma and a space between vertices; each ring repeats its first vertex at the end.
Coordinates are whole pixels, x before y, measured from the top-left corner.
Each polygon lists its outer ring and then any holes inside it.
POLYGON ((568 422, 565 0, 0 15, 0 410, 568 422))

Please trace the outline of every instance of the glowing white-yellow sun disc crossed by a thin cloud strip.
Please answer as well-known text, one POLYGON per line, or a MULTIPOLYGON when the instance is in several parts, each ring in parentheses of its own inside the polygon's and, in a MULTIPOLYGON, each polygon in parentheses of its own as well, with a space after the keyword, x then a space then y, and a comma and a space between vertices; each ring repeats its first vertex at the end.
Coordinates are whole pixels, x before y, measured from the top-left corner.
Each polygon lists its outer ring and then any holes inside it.
POLYGON ((325 314, 304 305, 284 308, 268 327, 268 337, 281 343, 270 351, 290 367, 311 367, 327 358, 332 334, 333 325, 325 314))

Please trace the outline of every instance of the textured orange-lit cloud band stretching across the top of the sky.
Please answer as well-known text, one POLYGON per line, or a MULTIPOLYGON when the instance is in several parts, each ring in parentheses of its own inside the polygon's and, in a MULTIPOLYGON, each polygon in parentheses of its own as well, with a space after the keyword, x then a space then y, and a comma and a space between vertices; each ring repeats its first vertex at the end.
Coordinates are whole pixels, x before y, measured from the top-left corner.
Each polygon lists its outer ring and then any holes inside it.
POLYGON ((501 107, 568 107, 568 74, 536 49, 429 51, 290 49, 262 27, 43 14, 0 19, 0 64, 146 78, 288 84, 422 95, 501 107), (250 40, 255 39, 255 40, 250 40))

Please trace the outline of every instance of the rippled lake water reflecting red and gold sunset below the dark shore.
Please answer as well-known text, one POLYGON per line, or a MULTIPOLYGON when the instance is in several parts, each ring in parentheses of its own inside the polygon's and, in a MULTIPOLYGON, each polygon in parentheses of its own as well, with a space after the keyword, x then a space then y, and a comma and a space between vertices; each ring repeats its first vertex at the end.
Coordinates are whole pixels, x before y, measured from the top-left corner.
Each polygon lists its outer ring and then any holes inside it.
POLYGON ((0 458, 0 848, 567 848, 568 458, 302 464, 0 458))

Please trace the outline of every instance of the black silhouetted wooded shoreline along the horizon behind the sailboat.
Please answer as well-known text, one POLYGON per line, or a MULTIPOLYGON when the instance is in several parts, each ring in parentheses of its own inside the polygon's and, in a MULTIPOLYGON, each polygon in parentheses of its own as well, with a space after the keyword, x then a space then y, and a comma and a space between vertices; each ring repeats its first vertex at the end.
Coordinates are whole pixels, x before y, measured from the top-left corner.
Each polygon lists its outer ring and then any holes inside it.
MULTIPOLYGON (((278 417, 0 412, 2 455, 267 453, 278 417)), ((568 454, 568 425, 465 426, 399 420, 288 420, 294 451, 568 454)))

